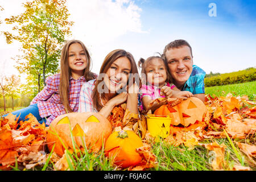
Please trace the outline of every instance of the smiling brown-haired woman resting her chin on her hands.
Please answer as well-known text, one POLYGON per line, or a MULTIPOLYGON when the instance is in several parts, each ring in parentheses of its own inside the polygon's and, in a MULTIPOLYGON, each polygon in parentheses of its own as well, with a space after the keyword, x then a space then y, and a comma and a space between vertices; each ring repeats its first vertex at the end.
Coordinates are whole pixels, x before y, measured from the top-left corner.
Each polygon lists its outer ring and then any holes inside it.
POLYGON ((126 102, 126 109, 138 114, 139 79, 134 82, 134 76, 139 75, 133 55, 123 49, 110 52, 98 79, 82 85, 79 112, 98 112, 108 118, 114 106, 126 102))

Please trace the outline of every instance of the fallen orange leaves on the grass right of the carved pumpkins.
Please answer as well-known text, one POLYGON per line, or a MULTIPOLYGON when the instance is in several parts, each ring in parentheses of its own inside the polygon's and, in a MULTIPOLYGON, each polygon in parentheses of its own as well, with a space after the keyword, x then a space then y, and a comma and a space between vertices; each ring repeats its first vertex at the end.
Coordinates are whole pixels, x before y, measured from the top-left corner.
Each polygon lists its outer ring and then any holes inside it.
MULTIPOLYGON (((212 162, 214 170, 222 170, 225 166, 225 144, 217 142, 200 143, 204 139, 231 138, 250 143, 236 142, 240 150, 249 158, 251 166, 256 166, 256 102, 249 101, 247 96, 234 97, 228 94, 226 97, 205 96, 207 113, 204 117, 206 125, 191 131, 179 131, 176 135, 170 135, 165 140, 169 144, 179 146, 181 143, 192 150, 195 146, 201 145, 210 151, 214 151, 216 158, 212 162), (250 107, 249 107, 250 106, 250 107), (251 107, 252 106, 252 107, 251 107), (247 140, 245 140, 247 139, 247 140)), ((229 170, 250 170, 240 164, 234 164, 229 170)))

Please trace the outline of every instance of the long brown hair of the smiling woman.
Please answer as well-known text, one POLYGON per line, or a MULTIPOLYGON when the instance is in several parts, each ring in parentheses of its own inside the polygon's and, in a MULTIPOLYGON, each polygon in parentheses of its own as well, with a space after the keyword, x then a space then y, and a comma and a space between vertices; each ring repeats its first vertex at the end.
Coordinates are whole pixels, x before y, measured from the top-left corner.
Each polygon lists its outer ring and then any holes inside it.
MULTIPOLYGON (((106 73, 110 66, 114 63, 115 60, 117 60, 119 57, 127 57, 127 59, 130 60, 131 63, 131 72, 130 73, 137 73, 138 75, 138 69, 137 65, 135 63, 133 55, 131 55, 130 52, 127 52, 123 49, 115 49, 114 51, 110 52, 104 59, 104 62, 101 65, 100 73, 106 73)), ((97 110, 100 111, 103 105, 101 104, 101 99, 106 100, 106 94, 105 93, 100 93, 98 92, 97 88, 98 85, 104 80, 96 80, 95 81, 95 87, 92 92, 92 100, 93 100, 93 107, 97 110)), ((129 81, 131 79, 129 78, 129 81)), ((133 81, 133 80, 132 80, 133 81)), ((137 83, 138 84, 138 83, 137 83)), ((129 84, 130 85, 130 84, 129 84)), ((117 95, 118 93, 116 93, 117 95)))

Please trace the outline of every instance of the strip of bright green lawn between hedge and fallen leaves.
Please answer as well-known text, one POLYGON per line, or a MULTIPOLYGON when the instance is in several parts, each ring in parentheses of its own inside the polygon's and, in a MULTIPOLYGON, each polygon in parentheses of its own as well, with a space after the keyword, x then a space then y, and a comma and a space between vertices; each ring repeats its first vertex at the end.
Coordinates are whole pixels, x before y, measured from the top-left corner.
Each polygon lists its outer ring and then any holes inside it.
POLYGON ((256 98, 256 81, 245 82, 241 84, 223 85, 223 86, 210 86, 205 88, 205 94, 211 96, 226 96, 232 93, 233 96, 248 96, 249 100, 256 98))

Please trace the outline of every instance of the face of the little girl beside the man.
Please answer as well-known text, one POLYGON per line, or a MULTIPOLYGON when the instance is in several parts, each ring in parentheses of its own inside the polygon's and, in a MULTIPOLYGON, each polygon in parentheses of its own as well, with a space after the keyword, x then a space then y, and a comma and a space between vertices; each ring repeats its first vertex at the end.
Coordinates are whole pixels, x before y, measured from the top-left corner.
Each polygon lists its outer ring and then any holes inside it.
POLYGON ((146 67, 146 74, 147 82, 162 88, 167 79, 166 65, 164 65, 164 61, 161 59, 152 59, 150 64, 146 67))

